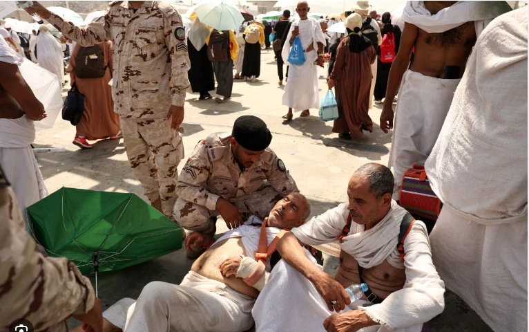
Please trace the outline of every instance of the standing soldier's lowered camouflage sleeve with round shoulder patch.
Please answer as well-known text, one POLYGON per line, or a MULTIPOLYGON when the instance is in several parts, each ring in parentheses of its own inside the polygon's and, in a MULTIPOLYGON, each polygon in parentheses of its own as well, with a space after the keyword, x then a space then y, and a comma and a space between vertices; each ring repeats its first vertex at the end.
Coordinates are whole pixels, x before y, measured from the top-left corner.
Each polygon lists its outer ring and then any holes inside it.
POLYGON ((187 72, 191 62, 187 56, 187 43, 182 17, 175 10, 172 15, 165 17, 164 24, 165 43, 171 56, 171 104, 184 106, 186 92, 189 89, 187 72))

